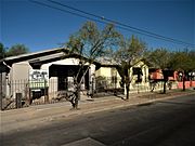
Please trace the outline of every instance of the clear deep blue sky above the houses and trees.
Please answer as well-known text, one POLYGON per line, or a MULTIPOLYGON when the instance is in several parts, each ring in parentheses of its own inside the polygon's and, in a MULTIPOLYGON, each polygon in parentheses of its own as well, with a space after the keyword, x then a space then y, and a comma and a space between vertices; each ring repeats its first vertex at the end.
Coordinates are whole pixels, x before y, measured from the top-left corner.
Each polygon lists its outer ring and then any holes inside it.
MULTIPOLYGON (((55 1, 139 29, 195 44, 194 0, 55 1)), ((53 4, 47 0, 41 0, 41 2, 53 4)), ((61 9, 67 10, 62 6, 61 9)), ((29 48, 30 52, 61 47, 84 22, 90 21, 32 3, 29 0, 0 0, 0 42, 6 48, 23 43, 29 48)), ((100 28, 105 26, 105 24, 96 24, 100 28)), ((193 49, 190 45, 116 29, 127 38, 136 36, 147 44, 148 49, 193 49)))

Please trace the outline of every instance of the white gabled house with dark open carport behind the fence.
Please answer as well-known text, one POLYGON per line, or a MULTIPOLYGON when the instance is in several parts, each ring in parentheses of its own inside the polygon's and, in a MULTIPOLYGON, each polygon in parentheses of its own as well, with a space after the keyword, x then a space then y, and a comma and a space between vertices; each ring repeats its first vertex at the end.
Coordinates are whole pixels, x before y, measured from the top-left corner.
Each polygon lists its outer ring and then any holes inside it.
MULTIPOLYGON (((98 64, 98 63, 96 63, 98 64)), ((86 64, 86 68, 89 65, 86 64)), ((78 55, 68 55, 64 48, 6 57, 0 61, 0 101, 15 98, 16 93, 31 98, 47 94, 47 99, 57 96, 60 91, 72 90, 73 77, 79 68, 78 55)), ((95 72, 90 66, 81 88, 89 90, 95 72)))

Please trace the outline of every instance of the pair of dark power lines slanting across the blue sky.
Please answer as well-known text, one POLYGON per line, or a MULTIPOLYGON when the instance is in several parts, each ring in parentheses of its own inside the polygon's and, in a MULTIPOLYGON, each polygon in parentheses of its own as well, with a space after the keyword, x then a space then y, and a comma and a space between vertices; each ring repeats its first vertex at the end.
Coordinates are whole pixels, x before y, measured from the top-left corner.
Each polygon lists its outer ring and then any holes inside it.
POLYGON ((69 13, 69 14, 73 14, 73 15, 76 15, 76 16, 79 16, 79 17, 82 17, 82 18, 91 19, 91 21, 94 21, 94 22, 98 22, 98 23, 102 23, 102 24, 113 23, 113 24, 117 25, 116 27, 118 27, 120 29, 125 29, 125 30, 128 30, 128 31, 133 31, 135 34, 144 35, 144 36, 147 36, 147 37, 152 37, 152 38, 156 38, 156 39, 160 39, 160 40, 165 40, 165 41, 169 41, 169 42, 173 42, 173 43, 180 43, 180 44, 195 47, 195 44, 192 44, 192 43, 183 42, 181 40, 168 38, 168 37, 160 36, 160 35, 154 34, 154 32, 150 32, 150 31, 146 31, 146 30, 143 30, 143 29, 140 29, 140 28, 135 28, 135 27, 132 27, 130 25, 122 24, 122 23, 119 23, 119 22, 116 22, 116 21, 113 21, 113 19, 109 19, 109 18, 105 18, 103 16, 99 16, 99 15, 95 15, 95 14, 92 14, 92 13, 89 13, 89 12, 86 12, 86 11, 69 6, 67 4, 60 3, 60 2, 56 2, 56 1, 53 1, 53 0, 48 0, 48 1, 52 2, 52 3, 55 3, 57 5, 61 5, 61 6, 67 8, 69 10, 77 11, 77 12, 82 13, 82 14, 78 14, 76 12, 60 9, 60 8, 56 8, 56 6, 53 6, 53 5, 43 3, 43 2, 35 1, 35 0, 29 0, 29 1, 34 2, 34 3, 37 3, 37 4, 40 4, 40 5, 43 5, 43 6, 54 9, 54 10, 58 10, 58 11, 62 11, 62 12, 65 12, 65 13, 69 13), (89 16, 86 16, 86 15, 89 15, 89 16), (92 18, 91 16, 93 16, 95 18, 92 18))

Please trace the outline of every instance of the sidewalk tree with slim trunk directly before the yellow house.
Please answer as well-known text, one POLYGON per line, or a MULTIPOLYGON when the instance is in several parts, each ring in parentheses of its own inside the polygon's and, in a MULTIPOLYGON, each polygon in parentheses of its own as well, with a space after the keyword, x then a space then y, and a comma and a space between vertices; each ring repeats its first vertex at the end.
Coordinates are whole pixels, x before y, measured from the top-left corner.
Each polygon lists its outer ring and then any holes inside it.
POLYGON ((127 97, 129 99, 129 90, 131 77, 129 69, 143 56, 146 45, 144 42, 132 36, 130 39, 121 39, 120 49, 115 52, 115 61, 118 63, 118 71, 121 76, 121 82, 126 87, 127 97))

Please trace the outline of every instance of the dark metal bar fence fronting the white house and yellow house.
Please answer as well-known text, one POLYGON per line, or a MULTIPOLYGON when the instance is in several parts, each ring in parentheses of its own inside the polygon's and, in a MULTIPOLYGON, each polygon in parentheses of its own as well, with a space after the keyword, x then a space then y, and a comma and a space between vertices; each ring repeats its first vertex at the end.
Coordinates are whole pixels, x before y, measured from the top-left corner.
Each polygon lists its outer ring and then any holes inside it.
MULTIPOLYGON (((86 81, 80 87, 81 95, 100 97, 123 94, 119 82, 119 78, 95 78, 86 81)), ((4 87, 5 91, 0 95, 3 110, 65 102, 75 90, 73 80, 65 78, 50 78, 48 81, 15 80, 6 82, 4 87)))

